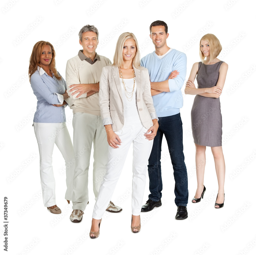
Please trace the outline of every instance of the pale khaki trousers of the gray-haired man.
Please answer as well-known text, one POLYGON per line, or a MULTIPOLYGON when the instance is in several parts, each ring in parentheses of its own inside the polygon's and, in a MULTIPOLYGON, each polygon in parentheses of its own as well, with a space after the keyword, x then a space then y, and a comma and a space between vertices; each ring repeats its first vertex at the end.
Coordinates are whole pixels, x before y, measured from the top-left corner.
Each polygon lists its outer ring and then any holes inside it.
POLYGON ((101 116, 88 113, 74 113, 73 130, 76 168, 73 179, 72 208, 73 210, 79 209, 84 211, 89 200, 88 171, 92 143, 94 159, 93 192, 96 199, 101 181, 103 180, 103 176, 106 172, 108 141, 106 138, 105 128, 102 125, 101 116))

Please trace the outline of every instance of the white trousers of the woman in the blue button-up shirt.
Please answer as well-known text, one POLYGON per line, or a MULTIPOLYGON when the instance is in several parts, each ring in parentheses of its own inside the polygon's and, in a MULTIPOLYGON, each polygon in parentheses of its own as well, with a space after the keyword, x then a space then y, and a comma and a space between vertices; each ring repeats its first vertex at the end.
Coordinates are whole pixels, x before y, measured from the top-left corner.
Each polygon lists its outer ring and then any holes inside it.
POLYGON ((39 148, 40 178, 42 197, 46 207, 56 204, 55 179, 52 169, 52 152, 54 144, 60 150, 66 163, 67 191, 65 199, 71 200, 73 193, 74 152, 66 122, 62 123, 34 123, 34 131, 39 148))

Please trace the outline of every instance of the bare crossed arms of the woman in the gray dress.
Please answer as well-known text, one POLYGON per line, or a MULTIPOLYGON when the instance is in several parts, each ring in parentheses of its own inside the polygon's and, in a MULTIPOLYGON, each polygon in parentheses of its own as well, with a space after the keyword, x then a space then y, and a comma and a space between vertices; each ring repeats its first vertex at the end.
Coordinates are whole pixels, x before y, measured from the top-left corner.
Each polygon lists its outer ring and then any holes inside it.
POLYGON ((198 62, 194 63, 192 66, 188 81, 186 83, 185 94, 200 95, 208 98, 219 98, 222 93, 222 89, 224 87, 224 83, 226 80, 228 64, 225 62, 221 64, 219 69, 218 82, 216 86, 213 86, 211 88, 202 88, 202 89, 196 88, 194 81, 197 75, 197 71, 198 71, 198 62))

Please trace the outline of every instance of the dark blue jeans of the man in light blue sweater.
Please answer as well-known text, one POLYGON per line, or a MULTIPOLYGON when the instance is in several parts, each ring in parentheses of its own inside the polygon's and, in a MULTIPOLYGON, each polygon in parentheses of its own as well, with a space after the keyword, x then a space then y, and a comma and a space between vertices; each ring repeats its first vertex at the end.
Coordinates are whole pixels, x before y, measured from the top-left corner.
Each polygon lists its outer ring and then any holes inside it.
POLYGON ((159 117, 159 128, 154 138, 153 148, 148 159, 149 190, 148 196, 153 201, 159 201, 162 197, 161 176, 161 147, 163 135, 166 138, 175 180, 175 204, 187 206, 188 203, 188 175, 183 154, 183 130, 180 113, 159 117))

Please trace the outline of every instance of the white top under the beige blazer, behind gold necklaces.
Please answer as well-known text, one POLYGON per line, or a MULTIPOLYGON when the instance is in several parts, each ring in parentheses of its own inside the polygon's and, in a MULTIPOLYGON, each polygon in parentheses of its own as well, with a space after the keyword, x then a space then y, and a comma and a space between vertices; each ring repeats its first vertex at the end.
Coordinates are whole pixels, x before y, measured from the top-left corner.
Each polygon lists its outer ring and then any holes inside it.
MULTIPOLYGON (((128 92, 132 92, 133 90, 133 78, 131 79, 123 79, 125 82, 125 88, 128 92)), ((122 83, 122 78, 120 78, 122 92, 123 92, 123 104, 124 104, 124 125, 131 125, 141 123, 141 119, 138 112, 137 100, 136 100, 136 78, 135 78, 135 86, 133 90, 132 100, 131 95, 127 95, 129 100, 126 97, 124 86, 122 83)))

